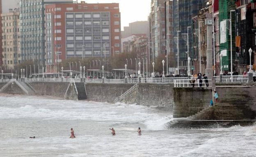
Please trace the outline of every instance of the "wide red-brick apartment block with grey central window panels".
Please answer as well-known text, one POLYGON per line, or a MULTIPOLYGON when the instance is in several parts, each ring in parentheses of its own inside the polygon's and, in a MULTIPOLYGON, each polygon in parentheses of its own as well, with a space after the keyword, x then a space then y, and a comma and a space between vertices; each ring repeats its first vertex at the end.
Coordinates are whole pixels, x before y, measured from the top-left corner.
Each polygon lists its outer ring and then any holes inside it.
POLYGON ((110 57, 120 51, 118 3, 46 6, 46 64, 69 57, 110 57))

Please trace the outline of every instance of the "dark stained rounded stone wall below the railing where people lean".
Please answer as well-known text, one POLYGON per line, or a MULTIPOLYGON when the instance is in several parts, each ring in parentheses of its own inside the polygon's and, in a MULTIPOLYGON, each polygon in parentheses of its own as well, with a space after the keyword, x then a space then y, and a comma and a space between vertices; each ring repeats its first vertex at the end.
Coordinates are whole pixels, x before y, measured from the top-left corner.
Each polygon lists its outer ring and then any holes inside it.
POLYGON ((204 88, 174 88, 173 117, 189 117, 207 108, 212 90, 204 88))

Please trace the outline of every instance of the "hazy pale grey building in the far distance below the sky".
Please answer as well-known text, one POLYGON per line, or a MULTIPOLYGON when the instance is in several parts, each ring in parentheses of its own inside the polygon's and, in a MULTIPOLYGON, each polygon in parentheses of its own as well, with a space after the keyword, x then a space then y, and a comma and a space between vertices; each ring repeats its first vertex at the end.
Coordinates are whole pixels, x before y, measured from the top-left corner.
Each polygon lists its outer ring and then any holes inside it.
POLYGON ((133 34, 146 34, 149 36, 149 22, 148 21, 136 21, 129 23, 128 27, 123 27, 121 31, 122 38, 126 38, 133 34))

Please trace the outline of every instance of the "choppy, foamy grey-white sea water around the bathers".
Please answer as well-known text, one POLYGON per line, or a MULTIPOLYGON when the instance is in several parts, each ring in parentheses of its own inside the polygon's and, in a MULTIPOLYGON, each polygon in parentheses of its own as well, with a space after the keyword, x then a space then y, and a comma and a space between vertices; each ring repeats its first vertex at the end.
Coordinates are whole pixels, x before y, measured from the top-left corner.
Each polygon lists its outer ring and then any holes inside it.
POLYGON ((256 156, 256 125, 167 130, 171 119, 165 108, 2 95, 0 157, 256 156))

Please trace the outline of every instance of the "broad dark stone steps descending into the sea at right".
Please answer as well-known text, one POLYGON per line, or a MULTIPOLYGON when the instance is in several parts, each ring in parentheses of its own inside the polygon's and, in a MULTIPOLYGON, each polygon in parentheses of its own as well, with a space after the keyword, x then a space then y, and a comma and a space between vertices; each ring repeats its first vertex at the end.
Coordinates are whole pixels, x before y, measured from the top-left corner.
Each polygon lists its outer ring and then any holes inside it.
POLYGON ((169 122, 169 129, 249 126, 256 122, 255 86, 219 86, 219 102, 187 118, 169 122))

